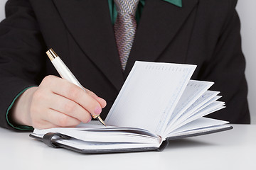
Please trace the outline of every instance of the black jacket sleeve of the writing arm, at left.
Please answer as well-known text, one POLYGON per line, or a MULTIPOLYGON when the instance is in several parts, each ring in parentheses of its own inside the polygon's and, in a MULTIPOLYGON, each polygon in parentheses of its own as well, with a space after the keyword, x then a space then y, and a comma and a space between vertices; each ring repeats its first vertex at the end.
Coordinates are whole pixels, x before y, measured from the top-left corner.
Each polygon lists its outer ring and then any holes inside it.
POLYGON ((46 45, 28 0, 9 0, 6 19, 0 23, 0 126, 13 130, 7 118, 15 99, 38 86, 46 62, 46 45))

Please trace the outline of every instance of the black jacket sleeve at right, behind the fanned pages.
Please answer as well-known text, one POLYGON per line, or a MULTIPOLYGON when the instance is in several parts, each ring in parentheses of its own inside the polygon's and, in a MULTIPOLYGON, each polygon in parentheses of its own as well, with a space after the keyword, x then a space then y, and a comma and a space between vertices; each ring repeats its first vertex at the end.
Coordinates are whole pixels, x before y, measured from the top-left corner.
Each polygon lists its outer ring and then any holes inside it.
POLYGON ((201 72, 201 79, 214 80, 213 90, 220 91, 226 108, 210 114, 210 118, 230 123, 250 123, 245 79, 245 57, 242 54, 240 20, 235 11, 236 1, 229 1, 228 17, 218 38, 210 61, 201 72))

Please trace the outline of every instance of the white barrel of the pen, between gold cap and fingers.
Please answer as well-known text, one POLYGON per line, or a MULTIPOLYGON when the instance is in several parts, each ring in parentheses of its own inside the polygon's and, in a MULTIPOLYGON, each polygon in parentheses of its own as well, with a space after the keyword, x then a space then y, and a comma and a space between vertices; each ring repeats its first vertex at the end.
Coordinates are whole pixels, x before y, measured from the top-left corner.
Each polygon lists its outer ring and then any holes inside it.
POLYGON ((70 83, 80 86, 80 88, 85 90, 79 83, 78 79, 75 78, 74 74, 70 72, 70 69, 68 69, 64 62, 60 59, 60 57, 55 57, 55 59, 51 60, 51 62, 53 63, 53 66, 57 70, 58 74, 60 74, 60 77, 70 81, 70 83))

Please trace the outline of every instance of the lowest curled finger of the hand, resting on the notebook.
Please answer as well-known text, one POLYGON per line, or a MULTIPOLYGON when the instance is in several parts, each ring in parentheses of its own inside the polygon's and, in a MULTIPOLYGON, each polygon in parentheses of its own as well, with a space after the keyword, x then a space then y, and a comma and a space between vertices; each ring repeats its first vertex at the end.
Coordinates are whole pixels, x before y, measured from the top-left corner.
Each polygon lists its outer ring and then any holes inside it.
POLYGON ((43 115, 43 120, 46 120, 47 122, 58 127, 75 127, 80 124, 80 120, 50 108, 43 115))

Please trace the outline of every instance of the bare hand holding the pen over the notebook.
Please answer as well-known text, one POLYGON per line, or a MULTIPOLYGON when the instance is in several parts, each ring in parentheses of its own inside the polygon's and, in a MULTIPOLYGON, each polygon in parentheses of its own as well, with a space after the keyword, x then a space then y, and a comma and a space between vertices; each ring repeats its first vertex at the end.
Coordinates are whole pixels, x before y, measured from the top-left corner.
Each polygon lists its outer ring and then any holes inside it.
POLYGON ((87 89, 55 76, 26 90, 15 102, 11 115, 19 125, 33 128, 75 127, 99 115, 106 101, 87 89), (86 91, 86 92, 85 92, 86 91))

